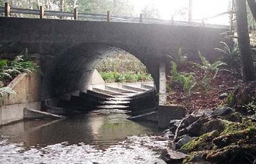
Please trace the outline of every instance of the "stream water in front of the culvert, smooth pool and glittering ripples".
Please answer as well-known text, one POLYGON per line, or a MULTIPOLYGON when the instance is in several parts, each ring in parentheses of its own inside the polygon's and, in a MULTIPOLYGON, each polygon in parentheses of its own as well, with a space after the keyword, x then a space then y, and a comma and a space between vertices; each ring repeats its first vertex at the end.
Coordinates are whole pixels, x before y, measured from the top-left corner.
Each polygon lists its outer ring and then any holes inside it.
POLYGON ((154 136, 159 134, 156 124, 127 117, 122 110, 97 110, 3 126, 0 163, 145 163, 159 156, 154 150, 167 142, 154 136))

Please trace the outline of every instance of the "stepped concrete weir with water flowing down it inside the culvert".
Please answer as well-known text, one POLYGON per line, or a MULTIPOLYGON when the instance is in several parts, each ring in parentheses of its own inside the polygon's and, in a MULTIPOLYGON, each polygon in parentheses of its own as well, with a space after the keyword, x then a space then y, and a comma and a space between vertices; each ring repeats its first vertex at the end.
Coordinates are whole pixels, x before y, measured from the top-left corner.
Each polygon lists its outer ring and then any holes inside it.
MULTIPOLYGON (((87 94, 93 95, 94 92, 104 98, 106 105, 99 108, 120 108, 124 110, 138 111, 145 108, 156 107, 156 91, 153 82, 136 83, 114 83, 93 85, 87 94)), ((86 94, 86 93, 81 93, 86 94)), ((97 98, 96 98, 97 100, 97 98)))

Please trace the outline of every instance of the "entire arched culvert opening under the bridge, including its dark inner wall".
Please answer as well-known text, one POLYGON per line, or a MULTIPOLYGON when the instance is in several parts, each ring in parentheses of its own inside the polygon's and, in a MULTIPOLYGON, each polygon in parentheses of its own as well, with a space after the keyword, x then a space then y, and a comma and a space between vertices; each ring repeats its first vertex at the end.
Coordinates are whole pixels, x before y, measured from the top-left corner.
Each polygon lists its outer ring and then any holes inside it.
POLYGON ((68 49, 46 71, 45 95, 60 98, 58 107, 82 112, 124 104, 124 110, 156 108, 153 79, 157 74, 148 64, 150 60, 132 48, 128 50, 134 55, 125 50, 104 43, 68 49))

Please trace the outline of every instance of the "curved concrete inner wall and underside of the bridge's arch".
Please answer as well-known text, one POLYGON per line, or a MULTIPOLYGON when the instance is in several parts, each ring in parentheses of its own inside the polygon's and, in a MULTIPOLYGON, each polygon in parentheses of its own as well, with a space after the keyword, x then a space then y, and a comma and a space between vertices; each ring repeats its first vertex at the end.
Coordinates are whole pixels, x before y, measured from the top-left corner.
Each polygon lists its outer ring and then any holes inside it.
POLYGON ((52 66, 44 71, 42 100, 86 91, 90 85, 93 69, 104 57, 116 52, 129 52, 140 59, 156 84, 158 83, 159 62, 158 59, 152 59, 149 52, 143 49, 135 50, 132 47, 115 47, 107 43, 81 43, 67 48, 63 54, 56 57, 52 66))

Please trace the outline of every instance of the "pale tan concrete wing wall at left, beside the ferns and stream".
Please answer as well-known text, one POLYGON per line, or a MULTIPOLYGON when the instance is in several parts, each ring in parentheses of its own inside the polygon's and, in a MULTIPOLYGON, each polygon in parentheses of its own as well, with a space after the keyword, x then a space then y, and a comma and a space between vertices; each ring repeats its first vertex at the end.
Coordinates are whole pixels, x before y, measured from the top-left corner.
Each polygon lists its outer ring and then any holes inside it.
POLYGON ((8 85, 17 94, 0 101, 0 125, 24 119, 24 108, 41 109, 40 77, 40 73, 22 73, 8 85))

